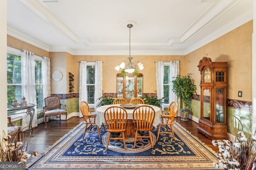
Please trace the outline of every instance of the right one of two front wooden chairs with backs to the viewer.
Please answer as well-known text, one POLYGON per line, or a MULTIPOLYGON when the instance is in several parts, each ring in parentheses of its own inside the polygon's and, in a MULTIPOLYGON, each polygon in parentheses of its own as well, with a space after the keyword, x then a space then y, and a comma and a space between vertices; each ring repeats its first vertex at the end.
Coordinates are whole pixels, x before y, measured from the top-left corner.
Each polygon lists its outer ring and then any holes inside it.
POLYGON ((155 110, 151 106, 141 105, 137 106, 133 111, 133 123, 134 123, 134 131, 135 131, 135 139, 134 139, 134 148, 136 146, 137 138, 149 138, 152 148, 153 141, 150 130, 152 129, 152 124, 155 118, 155 110), (147 131, 148 136, 138 136, 138 131, 147 131))

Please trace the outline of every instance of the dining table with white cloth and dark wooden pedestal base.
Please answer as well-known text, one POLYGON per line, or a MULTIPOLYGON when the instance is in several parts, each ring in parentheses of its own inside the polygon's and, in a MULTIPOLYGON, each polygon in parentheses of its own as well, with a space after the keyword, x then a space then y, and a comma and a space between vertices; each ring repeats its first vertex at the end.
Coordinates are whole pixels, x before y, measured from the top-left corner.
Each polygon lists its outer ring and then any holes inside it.
MULTIPOLYGON (((97 107, 96 109, 96 120, 95 123, 96 125, 98 125, 99 127, 102 125, 102 123, 106 123, 105 119, 104 119, 104 113, 106 111, 106 109, 108 107, 111 106, 120 106, 122 107, 122 104, 110 104, 110 105, 105 105, 105 106, 100 106, 97 107)), ((145 105, 145 106, 151 106, 153 107, 153 109, 155 110, 155 118, 153 121, 153 126, 157 127, 157 125, 160 123, 160 117, 162 114, 162 110, 160 109, 160 107, 157 106, 153 106, 153 105, 148 105, 148 104, 137 104, 138 106, 140 105, 145 105)), ((124 109, 127 111, 127 124, 126 124, 126 135, 133 135, 134 133, 134 125, 133 125, 133 111, 134 108, 129 108, 129 107, 124 107, 124 109)))

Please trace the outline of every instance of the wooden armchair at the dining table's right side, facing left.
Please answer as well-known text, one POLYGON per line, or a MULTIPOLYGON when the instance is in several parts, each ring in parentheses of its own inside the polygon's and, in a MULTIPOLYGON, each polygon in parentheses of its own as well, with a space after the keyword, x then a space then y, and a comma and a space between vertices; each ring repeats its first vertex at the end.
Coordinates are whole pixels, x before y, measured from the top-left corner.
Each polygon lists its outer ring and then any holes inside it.
POLYGON ((159 123, 156 140, 158 140, 160 133, 172 133, 173 139, 176 140, 174 136, 174 131, 172 129, 172 125, 173 125, 174 117, 177 111, 178 111, 178 103, 175 101, 169 105, 167 111, 162 110, 161 121, 159 123), (161 126, 164 126, 164 125, 166 126, 166 131, 160 132, 161 126), (169 131, 169 128, 171 131, 169 131))

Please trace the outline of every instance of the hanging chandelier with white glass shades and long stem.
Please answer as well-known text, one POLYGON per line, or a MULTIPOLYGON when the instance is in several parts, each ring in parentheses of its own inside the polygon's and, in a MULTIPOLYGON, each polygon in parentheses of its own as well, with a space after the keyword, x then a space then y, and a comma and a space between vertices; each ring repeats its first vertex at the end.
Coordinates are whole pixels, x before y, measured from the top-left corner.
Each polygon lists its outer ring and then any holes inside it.
POLYGON ((126 60, 122 62, 120 65, 116 66, 115 69, 119 71, 119 69, 122 68, 124 69, 125 72, 133 73, 136 70, 137 65, 140 70, 142 70, 144 67, 143 67, 143 64, 140 63, 139 61, 132 62, 133 58, 131 57, 131 27, 133 27, 133 25, 129 23, 127 27, 130 29, 130 41, 129 41, 130 54, 129 54, 129 57, 126 58, 128 59, 128 61, 126 60))

